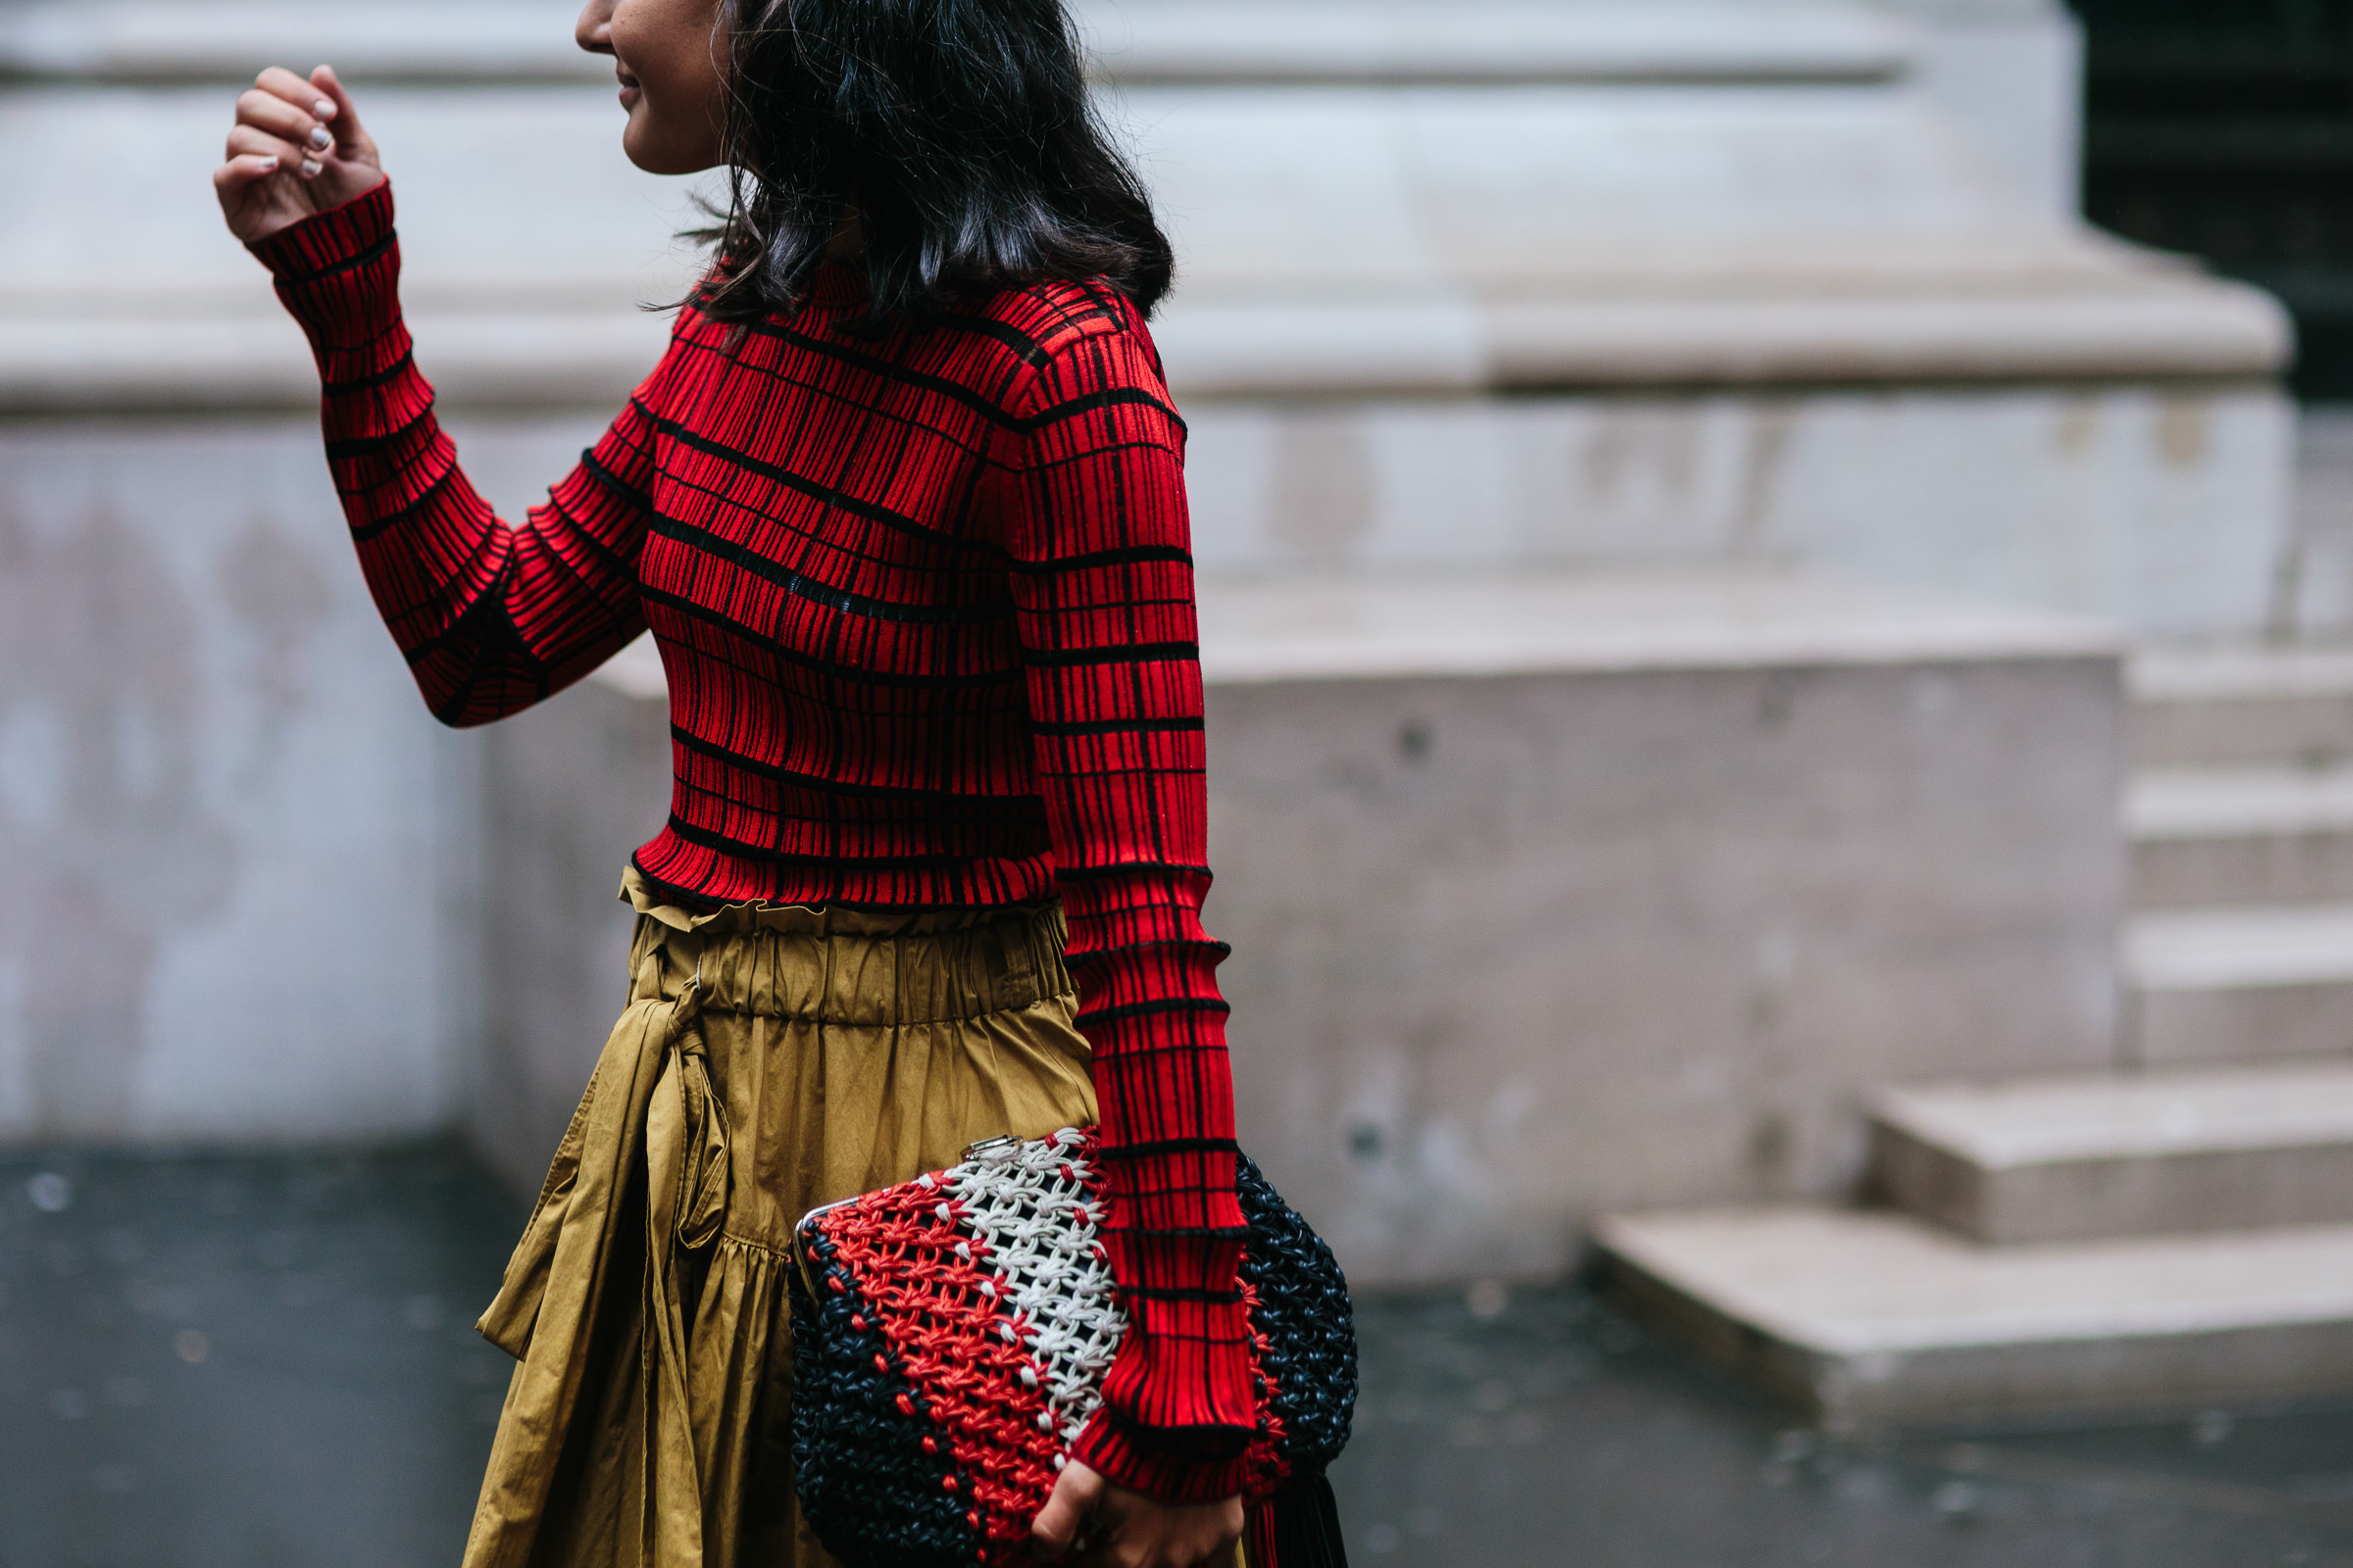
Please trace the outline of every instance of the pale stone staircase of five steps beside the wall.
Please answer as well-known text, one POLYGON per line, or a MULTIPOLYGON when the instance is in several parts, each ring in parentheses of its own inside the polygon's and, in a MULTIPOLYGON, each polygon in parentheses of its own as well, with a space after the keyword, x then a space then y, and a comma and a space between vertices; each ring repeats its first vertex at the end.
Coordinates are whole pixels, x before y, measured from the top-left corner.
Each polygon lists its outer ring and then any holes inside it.
POLYGON ((2353 1389, 2353 654, 2144 656, 2120 1070, 1885 1091, 1871 1208, 1614 1215, 1831 1427, 2353 1389))

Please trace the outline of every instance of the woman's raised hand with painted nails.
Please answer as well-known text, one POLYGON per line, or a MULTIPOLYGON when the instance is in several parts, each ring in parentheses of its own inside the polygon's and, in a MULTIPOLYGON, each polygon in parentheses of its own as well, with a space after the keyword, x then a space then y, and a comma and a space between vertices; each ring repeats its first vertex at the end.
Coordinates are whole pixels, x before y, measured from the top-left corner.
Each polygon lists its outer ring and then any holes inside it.
POLYGON ((212 172, 228 233, 247 244, 381 183, 376 143, 332 66, 311 80, 282 66, 254 78, 238 99, 228 162, 212 172))

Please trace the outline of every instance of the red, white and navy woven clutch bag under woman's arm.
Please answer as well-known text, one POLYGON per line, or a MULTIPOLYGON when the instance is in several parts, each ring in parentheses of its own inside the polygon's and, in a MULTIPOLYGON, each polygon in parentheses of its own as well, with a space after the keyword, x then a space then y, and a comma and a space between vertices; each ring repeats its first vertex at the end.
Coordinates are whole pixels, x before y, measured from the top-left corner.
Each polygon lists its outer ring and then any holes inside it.
MULTIPOLYGON (((1355 1406, 1348 1286, 1249 1159, 1235 1194, 1259 1389, 1245 1549, 1252 1568, 1334 1568, 1322 1472, 1355 1406)), ((1127 1333, 1099 1218, 1094 1133, 1064 1128, 800 1220, 793 1483, 847 1568, 1028 1561, 1127 1333)))

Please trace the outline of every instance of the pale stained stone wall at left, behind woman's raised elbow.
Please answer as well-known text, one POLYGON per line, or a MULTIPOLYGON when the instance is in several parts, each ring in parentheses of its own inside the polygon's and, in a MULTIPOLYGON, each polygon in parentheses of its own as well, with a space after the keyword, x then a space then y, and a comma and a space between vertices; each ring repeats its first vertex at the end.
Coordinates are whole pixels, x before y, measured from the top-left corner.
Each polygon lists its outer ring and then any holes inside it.
MULTIPOLYGON (((459 435, 513 508, 598 423, 459 435)), ((0 423, 0 1140, 459 1117, 480 752, 409 684, 313 418, 0 423)))

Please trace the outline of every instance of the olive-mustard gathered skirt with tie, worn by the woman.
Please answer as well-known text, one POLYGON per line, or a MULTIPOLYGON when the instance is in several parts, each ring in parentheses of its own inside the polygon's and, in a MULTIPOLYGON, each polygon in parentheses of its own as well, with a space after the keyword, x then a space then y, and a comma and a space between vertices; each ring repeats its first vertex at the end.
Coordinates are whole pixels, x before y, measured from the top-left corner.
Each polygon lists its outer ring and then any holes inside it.
POLYGON ((1061 910, 624 896, 628 1006, 480 1324, 518 1366, 466 1568, 816 1568, 791 1500, 791 1227, 981 1138, 1094 1121, 1061 910))

